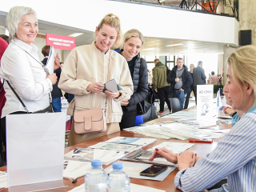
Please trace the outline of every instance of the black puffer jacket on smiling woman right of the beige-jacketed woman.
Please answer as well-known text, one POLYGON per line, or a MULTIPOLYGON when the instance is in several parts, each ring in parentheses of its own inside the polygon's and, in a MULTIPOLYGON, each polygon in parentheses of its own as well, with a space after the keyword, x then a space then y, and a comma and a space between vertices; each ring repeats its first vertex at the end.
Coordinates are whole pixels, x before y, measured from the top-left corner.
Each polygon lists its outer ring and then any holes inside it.
MULTIPOLYGON (((121 54, 123 50, 118 53, 121 54)), ((140 55, 136 55, 134 64, 134 73, 132 74, 134 84, 134 94, 130 96, 128 106, 122 106, 123 111, 130 111, 137 109, 138 102, 142 102, 146 99, 148 94, 148 79, 147 79, 147 66, 144 58, 140 58, 140 55)))

